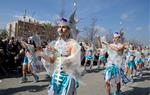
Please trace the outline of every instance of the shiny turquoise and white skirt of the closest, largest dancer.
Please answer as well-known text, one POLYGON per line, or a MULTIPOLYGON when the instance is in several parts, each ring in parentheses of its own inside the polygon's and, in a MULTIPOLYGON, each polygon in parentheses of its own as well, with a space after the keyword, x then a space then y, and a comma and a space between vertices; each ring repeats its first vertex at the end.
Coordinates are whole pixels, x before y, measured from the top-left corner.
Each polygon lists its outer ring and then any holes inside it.
POLYGON ((68 95, 68 93, 76 93, 78 85, 78 82, 64 71, 59 72, 59 74, 54 72, 48 95, 68 95))

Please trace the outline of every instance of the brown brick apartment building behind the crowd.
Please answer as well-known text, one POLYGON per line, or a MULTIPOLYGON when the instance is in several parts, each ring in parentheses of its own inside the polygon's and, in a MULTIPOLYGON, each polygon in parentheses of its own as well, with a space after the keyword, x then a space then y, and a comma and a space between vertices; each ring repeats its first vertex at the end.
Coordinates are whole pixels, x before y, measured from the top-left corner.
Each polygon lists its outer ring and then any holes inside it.
POLYGON ((27 39, 33 35, 39 35, 42 41, 54 40, 57 38, 56 26, 51 24, 39 24, 38 22, 15 21, 7 25, 8 36, 27 39))

